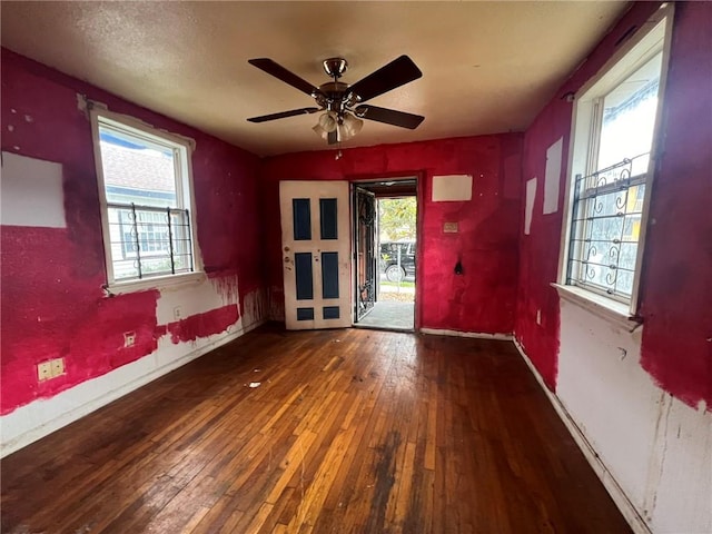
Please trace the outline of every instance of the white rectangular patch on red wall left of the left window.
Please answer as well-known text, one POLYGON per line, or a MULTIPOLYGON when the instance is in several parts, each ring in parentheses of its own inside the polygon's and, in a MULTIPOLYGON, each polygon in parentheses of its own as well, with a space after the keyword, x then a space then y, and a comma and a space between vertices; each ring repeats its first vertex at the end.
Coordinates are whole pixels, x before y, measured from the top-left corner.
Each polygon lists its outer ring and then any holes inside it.
POLYGON ((0 222, 66 228, 62 166, 2 152, 0 222))

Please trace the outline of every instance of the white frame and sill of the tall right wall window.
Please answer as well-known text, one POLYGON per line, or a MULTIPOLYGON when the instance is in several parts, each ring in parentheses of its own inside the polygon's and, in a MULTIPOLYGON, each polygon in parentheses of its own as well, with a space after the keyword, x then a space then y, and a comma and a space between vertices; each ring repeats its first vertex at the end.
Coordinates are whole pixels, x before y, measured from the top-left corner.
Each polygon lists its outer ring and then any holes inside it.
POLYGON ((668 63, 670 57, 670 43, 673 27, 673 6, 666 3, 653 13, 653 16, 611 57, 611 59, 600 69, 600 71, 586 82, 576 96, 572 112, 572 128, 568 149, 568 165, 564 196, 564 225, 561 235, 561 255, 558 260, 557 283, 553 286, 560 296, 568 301, 577 304, 590 312, 593 312, 604 319, 617 323, 629 330, 633 330, 640 324, 637 317, 640 304, 640 278, 645 254, 645 237, 650 211, 650 200, 653 189, 654 171, 659 159, 660 126, 662 108, 664 102, 665 81, 668 78, 668 63), (597 120, 594 112, 595 102, 613 90, 625 78, 637 68, 659 53, 661 48, 659 37, 653 30, 661 23, 664 26, 662 41, 662 66, 659 90, 659 105, 655 117, 653 141, 650 151, 647 177, 645 179, 645 198, 641 214, 641 230, 637 241, 637 256, 635 260, 635 271, 633 276, 633 289, 630 301, 622 301, 601 293, 586 289, 585 287, 567 284, 568 253, 572 234, 573 197, 576 175, 586 176, 590 170, 590 158, 593 150, 592 145, 597 144, 597 139, 591 137, 595 130, 593 122, 597 120), (633 52, 633 53, 631 53, 633 52))

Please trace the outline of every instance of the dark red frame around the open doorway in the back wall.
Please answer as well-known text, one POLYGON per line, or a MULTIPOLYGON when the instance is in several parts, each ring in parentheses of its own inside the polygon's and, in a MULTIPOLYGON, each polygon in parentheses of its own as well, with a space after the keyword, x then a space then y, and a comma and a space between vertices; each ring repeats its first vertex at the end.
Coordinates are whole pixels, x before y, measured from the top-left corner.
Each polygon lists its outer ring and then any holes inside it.
MULTIPOLYGON (((426 177, 427 177, 427 172, 423 169, 419 170, 413 170, 413 171, 398 171, 398 172, 369 172, 367 175, 349 175, 346 177, 346 179, 349 181, 350 184, 350 191, 352 191, 352 205, 353 205, 353 197, 354 197, 354 187, 360 187, 362 185, 366 185, 366 184, 377 184, 377 182, 382 182, 382 181, 400 181, 400 180, 413 180, 415 179, 415 200, 416 200, 416 212, 415 212, 415 263, 418 266, 417 269, 419 273, 423 273, 424 270, 424 266, 426 264, 425 258, 424 258, 424 254, 423 254, 423 218, 424 218, 424 214, 425 214, 425 206, 426 206, 426 177)), ((352 218, 352 224, 353 224, 353 216, 352 218)), ((353 235, 353 229, 352 229, 352 235, 353 235)), ((355 271, 355 259, 354 259, 354 243, 353 243, 353 238, 352 238, 352 286, 354 286, 354 278, 356 276, 356 271, 355 271)), ((415 283, 415 303, 414 303, 414 312, 415 312, 415 317, 414 317, 414 325, 413 325, 413 332, 414 333, 418 333, 422 328, 422 308, 421 308, 421 303, 423 301, 423 291, 424 291, 424 278, 423 276, 421 276, 419 278, 416 277, 416 283, 415 283), (421 281, 418 281, 418 279, 421 281)), ((353 298, 357 298, 356 295, 353 295, 353 298)), ((352 309, 354 307, 355 303, 352 303, 352 309)), ((352 316, 353 317, 353 316, 352 316)), ((352 323, 353 324, 353 323, 352 323)))

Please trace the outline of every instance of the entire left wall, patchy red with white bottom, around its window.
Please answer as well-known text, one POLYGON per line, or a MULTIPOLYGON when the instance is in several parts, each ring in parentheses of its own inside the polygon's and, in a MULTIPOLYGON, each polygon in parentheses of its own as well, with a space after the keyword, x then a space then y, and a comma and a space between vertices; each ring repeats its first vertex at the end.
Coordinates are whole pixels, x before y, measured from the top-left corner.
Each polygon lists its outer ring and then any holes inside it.
POLYGON ((1 69, 3 167, 14 166, 3 168, 13 177, 3 207, 13 198, 41 206, 9 211, 0 227, 4 455, 259 325, 267 306, 261 241, 245 231, 258 227, 256 156, 7 49, 1 69), (199 279, 102 290, 93 141, 80 95, 195 140, 199 279), (37 364, 53 358, 63 358, 65 373, 39 380, 37 364))

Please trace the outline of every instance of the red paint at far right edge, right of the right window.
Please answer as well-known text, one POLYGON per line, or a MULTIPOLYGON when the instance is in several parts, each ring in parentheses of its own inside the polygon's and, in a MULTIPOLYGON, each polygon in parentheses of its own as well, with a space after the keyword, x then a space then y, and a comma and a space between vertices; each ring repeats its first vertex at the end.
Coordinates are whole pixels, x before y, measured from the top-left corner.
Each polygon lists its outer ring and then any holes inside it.
POLYGON ((653 185, 641 364, 712 412, 712 4, 675 9, 664 137, 653 185))

